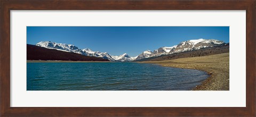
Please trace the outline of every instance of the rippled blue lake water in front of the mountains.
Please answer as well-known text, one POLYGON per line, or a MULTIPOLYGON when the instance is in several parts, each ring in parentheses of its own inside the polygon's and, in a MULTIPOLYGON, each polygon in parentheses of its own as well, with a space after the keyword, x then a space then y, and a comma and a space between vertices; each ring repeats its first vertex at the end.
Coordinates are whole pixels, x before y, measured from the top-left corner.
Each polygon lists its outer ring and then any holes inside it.
POLYGON ((135 62, 27 63, 28 91, 191 90, 204 71, 135 62))

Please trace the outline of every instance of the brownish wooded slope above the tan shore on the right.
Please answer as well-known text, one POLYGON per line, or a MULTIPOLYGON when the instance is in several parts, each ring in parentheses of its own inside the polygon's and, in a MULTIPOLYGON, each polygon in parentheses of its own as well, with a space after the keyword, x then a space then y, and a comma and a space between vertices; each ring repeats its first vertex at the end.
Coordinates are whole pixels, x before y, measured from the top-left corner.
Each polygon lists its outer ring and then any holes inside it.
POLYGON ((171 55, 162 55, 158 57, 150 57, 145 59, 140 59, 137 61, 159 61, 159 60, 171 60, 171 59, 178 59, 178 58, 188 58, 188 57, 201 57, 201 56, 208 56, 208 55, 216 55, 219 53, 227 53, 229 52, 229 43, 218 46, 218 47, 210 47, 204 48, 199 50, 192 50, 186 51, 181 53, 173 53, 171 55))

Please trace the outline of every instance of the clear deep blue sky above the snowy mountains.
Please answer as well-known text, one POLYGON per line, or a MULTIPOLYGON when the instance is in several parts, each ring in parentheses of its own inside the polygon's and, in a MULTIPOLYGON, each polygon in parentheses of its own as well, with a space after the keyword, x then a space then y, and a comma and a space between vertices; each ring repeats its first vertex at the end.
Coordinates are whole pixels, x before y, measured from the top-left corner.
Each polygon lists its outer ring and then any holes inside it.
POLYGON ((137 56, 191 39, 229 42, 229 26, 27 26, 27 43, 74 44, 80 49, 137 56))

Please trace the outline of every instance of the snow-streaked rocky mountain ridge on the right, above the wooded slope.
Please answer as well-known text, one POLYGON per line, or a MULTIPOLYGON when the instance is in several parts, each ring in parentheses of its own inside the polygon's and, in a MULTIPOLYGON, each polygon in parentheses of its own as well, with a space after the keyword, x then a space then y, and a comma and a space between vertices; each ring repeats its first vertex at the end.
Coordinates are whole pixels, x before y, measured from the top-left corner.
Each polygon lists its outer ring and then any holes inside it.
POLYGON ((150 50, 144 51, 135 60, 149 58, 149 57, 156 57, 161 55, 169 55, 172 53, 179 53, 179 52, 215 47, 215 46, 220 46, 222 44, 225 44, 225 42, 215 40, 215 39, 197 39, 197 40, 182 41, 178 45, 175 45, 172 47, 161 47, 161 48, 158 48, 157 50, 154 50, 153 52, 151 52, 150 50))

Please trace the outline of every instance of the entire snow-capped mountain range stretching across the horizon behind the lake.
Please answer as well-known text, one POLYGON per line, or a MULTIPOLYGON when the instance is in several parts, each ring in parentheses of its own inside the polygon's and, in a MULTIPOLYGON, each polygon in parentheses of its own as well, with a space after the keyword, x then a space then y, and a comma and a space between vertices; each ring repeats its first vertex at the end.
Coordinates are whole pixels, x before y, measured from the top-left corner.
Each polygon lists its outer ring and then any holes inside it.
POLYGON ((133 60, 140 60, 144 58, 157 57, 161 55, 171 55, 172 53, 180 53, 180 52, 186 52, 191 50, 199 50, 199 49, 204 49, 209 47, 221 46, 223 44, 225 44, 225 42, 215 40, 215 39, 188 40, 188 41, 182 41, 179 44, 172 47, 161 47, 154 51, 146 50, 136 57, 130 57, 129 55, 127 55, 127 53, 124 53, 123 55, 120 55, 120 56, 112 56, 112 55, 109 55, 109 53, 107 52, 92 51, 89 48, 79 49, 73 44, 62 44, 62 43, 56 43, 51 41, 41 41, 41 42, 38 42, 36 46, 44 47, 48 49, 56 49, 56 50, 66 51, 66 52, 74 52, 84 56, 99 57, 103 59, 108 59, 110 61, 133 61, 133 60))

